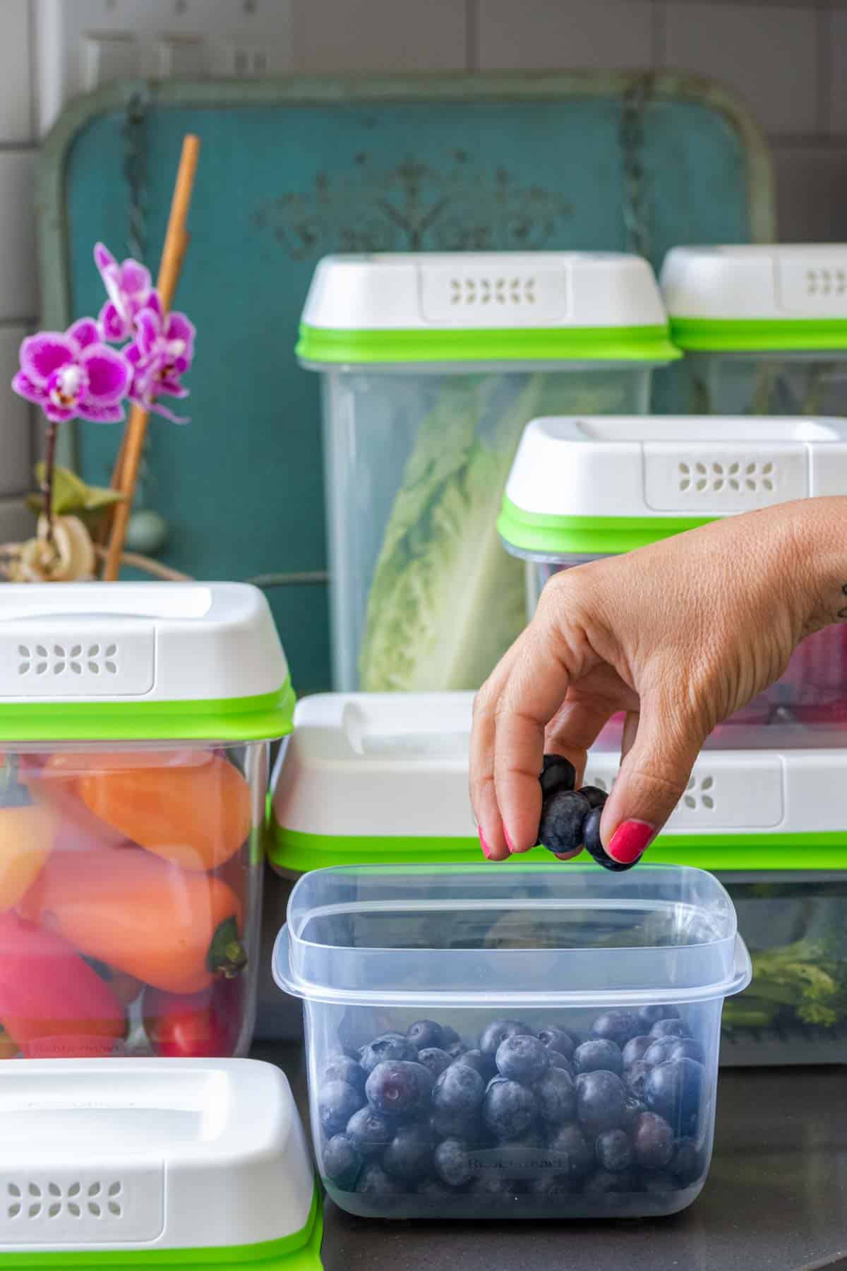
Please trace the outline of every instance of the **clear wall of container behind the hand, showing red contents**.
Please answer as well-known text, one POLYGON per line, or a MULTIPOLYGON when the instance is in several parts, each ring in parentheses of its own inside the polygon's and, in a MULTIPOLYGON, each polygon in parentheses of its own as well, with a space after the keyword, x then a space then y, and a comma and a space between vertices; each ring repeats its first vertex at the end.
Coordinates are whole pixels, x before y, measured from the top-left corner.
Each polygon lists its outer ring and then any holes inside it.
MULTIPOLYGON (((598 557, 526 562, 527 614, 531 616, 549 580, 563 569, 598 557)), ((847 625, 824 627, 794 651, 784 675, 734 714, 728 724, 800 724, 820 730, 847 726, 847 625)))

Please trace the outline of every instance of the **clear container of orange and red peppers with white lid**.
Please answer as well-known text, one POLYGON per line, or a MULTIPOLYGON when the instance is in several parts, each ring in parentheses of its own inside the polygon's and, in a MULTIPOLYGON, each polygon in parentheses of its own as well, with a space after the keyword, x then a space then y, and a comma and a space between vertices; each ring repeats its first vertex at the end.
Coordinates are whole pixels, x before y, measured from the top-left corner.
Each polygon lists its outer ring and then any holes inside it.
POLYGON ((3 587, 5 1057, 246 1050, 292 708, 253 587, 3 587))

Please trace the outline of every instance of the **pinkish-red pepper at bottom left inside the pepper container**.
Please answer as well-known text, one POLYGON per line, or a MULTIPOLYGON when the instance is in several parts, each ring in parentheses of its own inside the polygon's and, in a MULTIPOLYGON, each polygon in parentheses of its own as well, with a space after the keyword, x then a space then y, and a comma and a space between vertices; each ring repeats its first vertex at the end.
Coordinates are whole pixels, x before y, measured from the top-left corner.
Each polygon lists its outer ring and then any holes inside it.
POLYGON ((61 935, 0 914, 0 1023, 27 1059, 110 1055, 126 1036, 121 1003, 61 935))

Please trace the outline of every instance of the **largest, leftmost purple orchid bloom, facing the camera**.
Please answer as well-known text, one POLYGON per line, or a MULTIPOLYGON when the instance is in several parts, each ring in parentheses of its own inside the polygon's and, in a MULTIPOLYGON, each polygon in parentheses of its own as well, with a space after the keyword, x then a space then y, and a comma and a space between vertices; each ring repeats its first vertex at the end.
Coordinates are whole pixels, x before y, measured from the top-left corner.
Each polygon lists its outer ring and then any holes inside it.
POLYGON ((98 324, 83 318, 61 332, 43 330, 20 346, 20 370, 11 386, 39 405, 52 423, 93 419, 119 423, 132 369, 100 343, 98 324))

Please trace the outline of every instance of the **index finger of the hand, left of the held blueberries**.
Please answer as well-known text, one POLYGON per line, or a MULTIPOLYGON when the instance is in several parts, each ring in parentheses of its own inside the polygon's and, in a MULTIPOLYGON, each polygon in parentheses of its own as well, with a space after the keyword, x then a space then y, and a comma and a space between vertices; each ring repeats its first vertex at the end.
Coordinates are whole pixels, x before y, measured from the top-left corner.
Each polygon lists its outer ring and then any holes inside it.
POLYGON ((494 789, 509 849, 527 852, 538 836, 545 727, 561 707, 571 671, 546 624, 527 628, 517 655, 495 705, 494 789))

